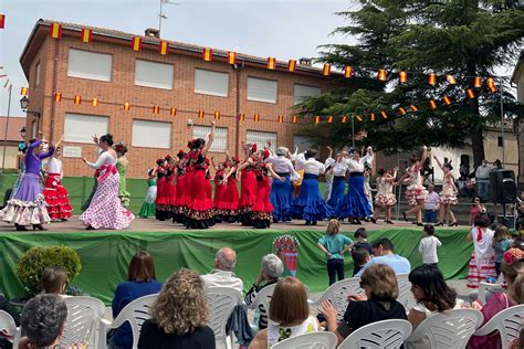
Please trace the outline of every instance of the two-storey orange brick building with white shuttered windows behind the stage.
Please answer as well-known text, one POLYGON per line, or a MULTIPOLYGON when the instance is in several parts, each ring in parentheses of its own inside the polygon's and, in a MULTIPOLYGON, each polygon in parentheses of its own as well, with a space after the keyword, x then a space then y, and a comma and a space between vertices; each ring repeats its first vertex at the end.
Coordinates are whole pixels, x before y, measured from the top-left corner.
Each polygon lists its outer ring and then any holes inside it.
POLYGON ((53 39, 52 24, 36 22, 20 59, 30 88, 27 137, 39 129, 52 140, 63 134, 66 176, 91 176, 82 162, 82 157, 95 158, 91 137, 112 133, 129 148, 128 176, 144 177, 157 158, 208 134, 214 112, 220 112, 211 148, 216 156, 227 149, 238 154, 242 141, 270 139, 290 148, 306 144, 292 123, 292 106, 328 89, 338 75, 326 77, 322 70, 298 63, 289 72, 287 62, 280 61, 269 70, 266 57, 240 53, 231 65, 221 50, 212 50, 212 62, 206 62, 202 46, 172 41, 168 54, 161 55, 160 40, 154 35, 139 36, 142 50, 134 51, 134 34, 71 23, 60 23, 61 36, 53 39), (82 41, 83 28, 92 31, 91 42, 82 41), (126 102, 129 110, 124 109, 126 102), (177 109, 175 116, 171 108, 177 109), (240 114, 245 120, 239 120, 240 114), (255 114, 260 121, 254 121, 255 114), (284 123, 279 123, 279 115, 284 123))

